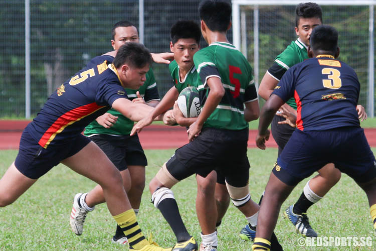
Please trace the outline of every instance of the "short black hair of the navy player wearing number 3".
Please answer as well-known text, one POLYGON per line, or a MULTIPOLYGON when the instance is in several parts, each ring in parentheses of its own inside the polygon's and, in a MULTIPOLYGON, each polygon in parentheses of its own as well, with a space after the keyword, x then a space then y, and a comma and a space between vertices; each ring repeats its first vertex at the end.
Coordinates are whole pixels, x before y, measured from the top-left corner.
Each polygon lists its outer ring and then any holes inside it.
POLYGON ((335 55, 338 47, 338 32, 329 25, 316 26, 309 38, 309 45, 314 54, 335 55))

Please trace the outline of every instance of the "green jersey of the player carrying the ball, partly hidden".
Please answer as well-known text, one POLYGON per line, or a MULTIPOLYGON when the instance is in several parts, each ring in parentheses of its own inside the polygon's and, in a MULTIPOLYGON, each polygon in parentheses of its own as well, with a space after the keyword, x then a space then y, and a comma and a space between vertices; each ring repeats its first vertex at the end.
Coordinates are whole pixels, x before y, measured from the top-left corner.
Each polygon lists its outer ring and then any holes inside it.
POLYGON ((191 70, 185 75, 184 79, 180 79, 179 71, 180 68, 177 65, 176 61, 173 60, 168 65, 168 70, 173 79, 173 85, 180 93, 185 87, 194 86, 197 81, 197 71, 195 65, 192 66, 191 70))

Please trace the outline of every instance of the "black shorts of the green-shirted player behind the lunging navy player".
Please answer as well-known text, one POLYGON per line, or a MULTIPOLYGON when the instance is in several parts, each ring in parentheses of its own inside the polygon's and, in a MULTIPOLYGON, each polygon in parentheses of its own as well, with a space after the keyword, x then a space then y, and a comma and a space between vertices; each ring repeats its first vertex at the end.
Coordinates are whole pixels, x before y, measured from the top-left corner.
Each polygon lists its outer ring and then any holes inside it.
POLYGON ((107 155, 119 171, 128 166, 147 166, 145 153, 142 150, 138 135, 111 136, 98 134, 90 139, 107 155))

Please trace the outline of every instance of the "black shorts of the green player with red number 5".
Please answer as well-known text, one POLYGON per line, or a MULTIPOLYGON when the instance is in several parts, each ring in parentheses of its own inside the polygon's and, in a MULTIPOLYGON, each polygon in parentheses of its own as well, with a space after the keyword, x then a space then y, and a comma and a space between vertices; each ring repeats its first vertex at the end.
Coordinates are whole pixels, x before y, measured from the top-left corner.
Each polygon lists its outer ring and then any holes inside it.
POLYGON ((177 180, 193 174, 206 177, 217 169, 235 187, 248 185, 248 129, 231 131, 204 128, 194 141, 182 146, 167 161, 168 172, 177 180))

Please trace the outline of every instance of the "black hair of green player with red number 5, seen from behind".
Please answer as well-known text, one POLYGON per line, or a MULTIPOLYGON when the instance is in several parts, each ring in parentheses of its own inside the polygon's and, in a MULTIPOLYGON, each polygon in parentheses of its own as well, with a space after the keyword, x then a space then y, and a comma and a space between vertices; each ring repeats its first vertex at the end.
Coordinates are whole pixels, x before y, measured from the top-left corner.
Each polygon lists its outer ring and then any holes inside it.
POLYGON ((200 19, 211 31, 226 32, 231 12, 231 4, 224 0, 205 0, 199 5, 200 19))

